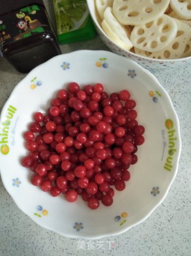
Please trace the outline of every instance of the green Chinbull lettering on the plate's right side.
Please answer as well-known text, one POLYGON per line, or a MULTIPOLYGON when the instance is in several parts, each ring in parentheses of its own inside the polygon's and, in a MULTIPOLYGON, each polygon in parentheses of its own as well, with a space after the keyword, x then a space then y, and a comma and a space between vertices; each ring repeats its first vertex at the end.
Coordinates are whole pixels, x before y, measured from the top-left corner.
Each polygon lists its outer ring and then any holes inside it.
POLYGON ((174 129, 174 124, 171 119, 167 119, 165 121, 165 127, 168 129, 168 132, 167 132, 167 134, 168 134, 168 156, 165 161, 164 168, 167 171, 171 171, 174 153, 177 151, 175 149, 175 142, 176 142, 177 138, 175 137, 176 131, 174 129))

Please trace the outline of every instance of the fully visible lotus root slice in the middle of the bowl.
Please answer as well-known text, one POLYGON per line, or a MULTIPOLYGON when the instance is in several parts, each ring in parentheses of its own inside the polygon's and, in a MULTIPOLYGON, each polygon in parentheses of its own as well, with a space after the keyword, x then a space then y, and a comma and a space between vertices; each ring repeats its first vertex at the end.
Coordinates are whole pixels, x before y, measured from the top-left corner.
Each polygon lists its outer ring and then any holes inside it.
POLYGON ((134 26, 130 40, 138 49, 158 52, 167 47, 174 40, 176 34, 177 23, 175 19, 163 14, 152 22, 134 26))

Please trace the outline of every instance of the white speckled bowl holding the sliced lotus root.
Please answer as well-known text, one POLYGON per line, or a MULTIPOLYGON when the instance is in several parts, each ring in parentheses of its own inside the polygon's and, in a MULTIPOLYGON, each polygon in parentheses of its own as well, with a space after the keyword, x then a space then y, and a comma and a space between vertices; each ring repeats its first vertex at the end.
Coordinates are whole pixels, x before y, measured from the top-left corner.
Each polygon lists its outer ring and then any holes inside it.
POLYGON ((191 56, 181 59, 152 59, 147 58, 141 55, 137 55, 136 53, 130 52, 118 46, 118 44, 114 43, 107 34, 101 28, 101 20, 97 13, 96 6, 94 4, 94 0, 87 0, 88 8, 90 11, 91 18, 94 22, 98 35, 101 40, 106 44, 109 49, 117 53, 118 55, 125 56, 127 58, 133 59, 138 64, 140 64, 144 68, 167 68, 174 67, 174 65, 190 65, 191 64, 191 56))

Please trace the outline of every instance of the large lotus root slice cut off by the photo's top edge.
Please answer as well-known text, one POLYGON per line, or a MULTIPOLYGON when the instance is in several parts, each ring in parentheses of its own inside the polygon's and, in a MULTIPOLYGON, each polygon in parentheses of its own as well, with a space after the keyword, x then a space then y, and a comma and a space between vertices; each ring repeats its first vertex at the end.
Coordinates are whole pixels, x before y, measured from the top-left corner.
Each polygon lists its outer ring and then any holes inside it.
POLYGON ((114 0, 113 13, 123 25, 142 25, 158 19, 170 0, 114 0))

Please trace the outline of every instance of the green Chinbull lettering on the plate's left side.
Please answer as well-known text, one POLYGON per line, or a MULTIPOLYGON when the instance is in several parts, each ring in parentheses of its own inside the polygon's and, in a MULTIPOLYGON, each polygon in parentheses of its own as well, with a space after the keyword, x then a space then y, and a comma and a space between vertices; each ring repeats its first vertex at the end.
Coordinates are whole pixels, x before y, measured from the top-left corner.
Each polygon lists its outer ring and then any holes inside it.
POLYGON ((5 116, 5 120, 1 122, 0 151, 3 155, 7 155, 8 152, 10 151, 10 148, 8 147, 10 125, 11 125, 11 119, 13 119, 13 116, 16 113, 16 111, 17 109, 10 105, 7 109, 7 115, 5 116))

